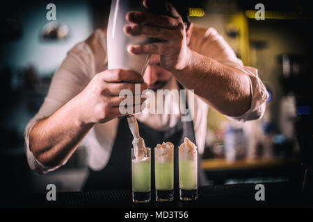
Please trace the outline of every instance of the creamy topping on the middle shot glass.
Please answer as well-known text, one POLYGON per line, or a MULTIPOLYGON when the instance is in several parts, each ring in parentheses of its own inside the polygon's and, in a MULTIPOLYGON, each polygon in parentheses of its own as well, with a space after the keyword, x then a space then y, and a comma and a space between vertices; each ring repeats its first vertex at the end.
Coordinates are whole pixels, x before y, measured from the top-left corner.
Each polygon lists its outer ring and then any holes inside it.
POLYGON ((171 142, 157 144, 157 146, 154 148, 154 155, 156 162, 172 162, 174 155, 174 145, 171 142))

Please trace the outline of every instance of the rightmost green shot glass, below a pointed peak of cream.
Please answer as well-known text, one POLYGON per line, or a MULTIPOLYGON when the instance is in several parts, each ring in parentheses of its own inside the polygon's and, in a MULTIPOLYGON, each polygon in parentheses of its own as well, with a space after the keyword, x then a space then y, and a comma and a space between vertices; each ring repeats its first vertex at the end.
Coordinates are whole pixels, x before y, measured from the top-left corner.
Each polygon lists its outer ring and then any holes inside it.
POLYGON ((179 151, 179 197, 181 200, 198 198, 198 151, 179 151))

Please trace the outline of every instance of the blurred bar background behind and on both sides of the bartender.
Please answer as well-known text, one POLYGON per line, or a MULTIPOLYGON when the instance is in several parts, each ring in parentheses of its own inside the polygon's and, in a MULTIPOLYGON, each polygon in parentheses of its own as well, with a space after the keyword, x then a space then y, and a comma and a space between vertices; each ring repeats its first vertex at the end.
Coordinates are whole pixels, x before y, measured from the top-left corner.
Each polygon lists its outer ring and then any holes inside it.
MULTIPOLYGON (((2 191, 79 191, 87 177, 86 147, 64 167, 40 176, 29 169, 24 128, 39 110, 51 77, 74 44, 106 28, 111 1, 13 1, 1 7, 2 191)), ((264 117, 235 123, 209 109, 202 167, 212 185, 303 180, 300 144, 312 141, 312 17, 307 1, 193 0, 191 22, 214 27, 244 65, 259 70, 270 98, 264 117), (256 20, 257 3, 265 19, 256 20), (302 140, 301 140, 302 139, 302 140)), ((307 145, 312 148, 312 142, 307 145)), ((312 161, 312 160, 311 160, 312 161)))

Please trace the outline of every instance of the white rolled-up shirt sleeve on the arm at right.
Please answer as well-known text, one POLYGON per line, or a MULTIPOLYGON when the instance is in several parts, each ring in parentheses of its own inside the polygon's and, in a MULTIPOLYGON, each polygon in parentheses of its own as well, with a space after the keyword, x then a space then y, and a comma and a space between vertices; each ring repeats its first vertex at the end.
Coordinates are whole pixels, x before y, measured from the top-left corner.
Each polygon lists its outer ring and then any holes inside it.
POLYGON ((223 36, 218 34, 214 28, 209 28, 204 33, 202 41, 198 42, 200 42, 198 46, 200 54, 213 58, 221 64, 232 67, 249 77, 251 94, 250 109, 240 117, 226 117, 237 121, 248 121, 261 118, 266 109, 268 92, 262 83, 262 80, 259 78, 257 69, 244 66, 243 62, 236 57, 236 54, 230 45, 224 40, 223 36))

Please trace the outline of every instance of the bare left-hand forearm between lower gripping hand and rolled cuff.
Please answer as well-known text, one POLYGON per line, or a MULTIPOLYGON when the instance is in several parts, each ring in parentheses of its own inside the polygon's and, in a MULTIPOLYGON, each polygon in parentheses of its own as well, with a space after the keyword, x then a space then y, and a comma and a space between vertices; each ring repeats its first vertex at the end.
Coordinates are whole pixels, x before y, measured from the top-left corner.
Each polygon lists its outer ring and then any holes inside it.
POLYGON ((35 123, 29 134, 33 155, 47 167, 62 164, 76 150, 93 124, 83 124, 74 97, 47 119, 35 123))

